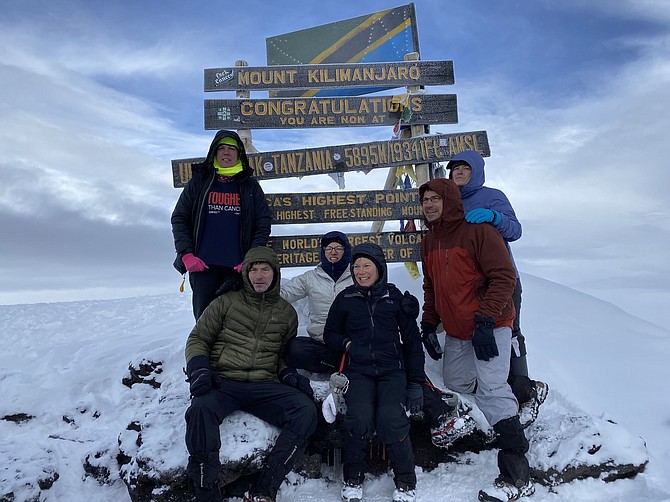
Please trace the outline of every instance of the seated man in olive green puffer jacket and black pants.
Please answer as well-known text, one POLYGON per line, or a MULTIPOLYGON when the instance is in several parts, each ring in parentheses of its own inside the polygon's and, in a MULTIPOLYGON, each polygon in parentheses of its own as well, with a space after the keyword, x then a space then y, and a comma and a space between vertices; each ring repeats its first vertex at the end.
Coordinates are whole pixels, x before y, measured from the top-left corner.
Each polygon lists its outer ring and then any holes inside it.
POLYGON ((286 345, 297 334, 298 316, 279 296, 279 261, 270 248, 247 253, 242 282, 241 290, 212 301, 186 341, 192 395, 186 411, 186 472, 198 502, 222 500, 219 426, 234 411, 281 429, 244 502, 273 502, 316 430, 309 380, 286 364, 286 345))

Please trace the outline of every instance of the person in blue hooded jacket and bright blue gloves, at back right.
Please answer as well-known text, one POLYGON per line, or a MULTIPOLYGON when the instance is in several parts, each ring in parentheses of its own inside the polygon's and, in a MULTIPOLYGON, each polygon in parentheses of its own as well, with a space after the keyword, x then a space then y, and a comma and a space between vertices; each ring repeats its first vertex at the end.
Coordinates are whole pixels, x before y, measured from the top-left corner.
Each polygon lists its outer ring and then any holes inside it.
MULTIPOLYGON (((496 188, 484 186, 484 158, 474 150, 464 150, 456 154, 447 164, 449 178, 460 188, 465 219, 469 223, 492 225, 503 237, 510 259, 516 270, 516 287, 512 295, 516 317, 512 327, 512 356, 508 383, 519 402, 519 417, 524 427, 537 418, 538 408, 544 402, 549 391, 546 383, 531 380, 528 376, 526 360, 526 341, 521 333, 521 279, 514 263, 510 242, 521 237, 521 223, 516 217, 507 196, 496 188)), ((422 334, 426 351, 433 359, 441 354, 435 351, 437 337, 424 329, 422 334), (431 343, 432 341, 432 343, 431 343)))

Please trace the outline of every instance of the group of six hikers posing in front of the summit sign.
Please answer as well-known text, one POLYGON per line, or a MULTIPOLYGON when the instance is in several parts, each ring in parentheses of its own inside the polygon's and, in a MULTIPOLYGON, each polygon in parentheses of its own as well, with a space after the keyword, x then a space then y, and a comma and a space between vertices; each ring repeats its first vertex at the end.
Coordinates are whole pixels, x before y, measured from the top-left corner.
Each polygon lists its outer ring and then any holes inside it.
POLYGON ((376 435, 389 454, 393 501, 414 501, 410 417, 423 417, 441 447, 475 426, 459 413, 457 399, 447 398, 455 395, 427 378, 424 349, 443 360, 444 386, 472 395, 496 433, 499 475, 479 500, 534 492, 524 426, 548 388, 528 377, 519 329, 521 285, 508 243, 521 236, 521 225, 505 195, 484 186, 481 155, 461 152, 447 167, 449 179, 419 188, 428 228, 421 242, 421 309, 417 298, 388 282, 381 247, 352 247, 337 231, 322 237, 316 268, 282 284, 267 247, 270 210, 244 144, 233 131, 216 133, 172 214, 175 267, 189 272, 196 319, 185 349, 192 397, 187 474, 196 501, 223 499, 219 426, 236 410, 281 430, 244 498, 275 500, 317 426, 305 371, 341 372, 348 381, 342 500, 363 500, 367 450, 376 435), (291 304, 303 298, 309 336, 298 337, 291 304))

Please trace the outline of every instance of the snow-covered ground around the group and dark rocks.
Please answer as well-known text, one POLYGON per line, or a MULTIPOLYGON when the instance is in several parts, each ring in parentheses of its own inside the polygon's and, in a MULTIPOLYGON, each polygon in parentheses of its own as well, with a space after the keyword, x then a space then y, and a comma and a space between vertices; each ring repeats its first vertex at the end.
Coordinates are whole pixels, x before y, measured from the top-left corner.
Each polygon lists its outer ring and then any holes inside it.
MULTIPOLYGON (((420 281, 412 281, 402 266, 392 265, 389 275, 401 290, 421 298, 420 281)), ((621 458, 637 455, 630 450, 631 438, 643 438, 650 459, 635 479, 587 479, 551 490, 538 485, 529 500, 670 500, 670 400, 665 392, 670 331, 564 286, 529 275, 522 280, 531 374, 551 388, 535 431, 529 430, 531 463, 548 461, 546 444, 532 438, 541 436, 543 424, 560 421, 566 409, 600 424, 616 422, 603 429, 604 441, 621 458)), ((130 500, 118 470, 112 470, 109 484, 100 485, 85 476, 82 463, 87 455, 106 451, 113 468, 120 434, 127 433, 131 421, 159 414, 166 406, 185 410, 188 387, 181 368, 192 324, 187 293, 0 306, 0 417, 33 417, 23 423, 0 420, 0 500, 130 500), (152 401, 155 389, 147 385, 129 389, 121 383, 129 363, 143 358, 163 363, 160 402, 152 401), (40 493, 34 483, 49 472, 59 477, 40 493)), ((439 364, 427 358, 427 369, 438 381, 439 364)), ((176 416, 177 423, 155 424, 150 433, 171 445, 161 450, 173 452, 162 459, 164 467, 186 459, 183 419, 176 416)), ((482 484, 494 478, 495 465, 495 452, 487 451, 419 472, 417 500, 474 501, 482 484)), ((292 480, 295 485, 283 486, 279 502, 340 500, 337 483, 292 480)), ((368 479, 366 500, 390 500, 392 485, 388 475, 368 479)))

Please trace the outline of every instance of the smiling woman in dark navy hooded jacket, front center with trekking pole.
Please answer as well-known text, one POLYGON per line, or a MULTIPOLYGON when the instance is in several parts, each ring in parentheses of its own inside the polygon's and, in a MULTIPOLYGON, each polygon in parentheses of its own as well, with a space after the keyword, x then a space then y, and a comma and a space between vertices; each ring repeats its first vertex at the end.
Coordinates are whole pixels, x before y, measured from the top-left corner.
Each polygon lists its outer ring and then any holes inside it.
POLYGON ((326 345, 346 352, 342 500, 360 502, 368 441, 376 432, 386 445, 394 473, 394 502, 416 497, 414 452, 406 410, 423 405, 424 355, 416 319, 401 306, 402 293, 387 282, 382 249, 354 247, 355 283, 333 302, 323 331, 326 345))

